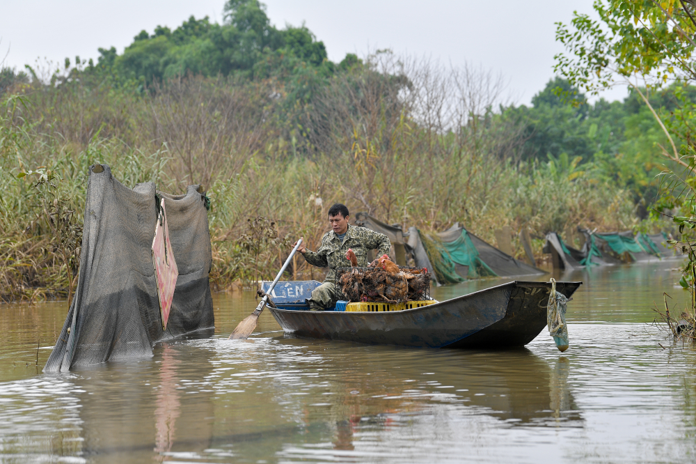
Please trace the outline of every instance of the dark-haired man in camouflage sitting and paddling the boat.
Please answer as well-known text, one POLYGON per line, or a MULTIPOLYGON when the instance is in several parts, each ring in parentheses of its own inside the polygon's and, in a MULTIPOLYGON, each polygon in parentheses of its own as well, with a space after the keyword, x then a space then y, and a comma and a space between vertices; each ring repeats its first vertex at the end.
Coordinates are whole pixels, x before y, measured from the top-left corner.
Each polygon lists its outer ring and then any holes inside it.
POLYGON ((358 268, 367 268, 368 249, 377 249, 377 256, 381 256, 389 254, 391 248, 389 239, 383 233, 348 224, 348 208, 345 205, 336 203, 331 206, 329 222, 333 230, 324 234, 317 252, 310 252, 304 243, 297 249, 308 263, 329 268, 324 283, 315 288, 312 297, 307 300, 312 311, 324 311, 336 304, 335 269, 350 267, 350 261, 346 258, 348 249, 355 253, 358 268))

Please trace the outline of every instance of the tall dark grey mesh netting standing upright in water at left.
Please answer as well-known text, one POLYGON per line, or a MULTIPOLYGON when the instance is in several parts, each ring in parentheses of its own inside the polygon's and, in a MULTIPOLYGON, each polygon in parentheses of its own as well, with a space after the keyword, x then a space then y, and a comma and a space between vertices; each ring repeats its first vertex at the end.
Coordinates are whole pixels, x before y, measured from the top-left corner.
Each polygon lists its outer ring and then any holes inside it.
POLYGON ((210 235, 200 186, 172 196, 156 192, 154 183, 130 190, 104 164, 90 167, 89 174, 77 290, 45 372, 152 356, 157 341, 214 326, 210 235), (156 194, 166 199, 179 270, 166 331, 151 252, 156 194))

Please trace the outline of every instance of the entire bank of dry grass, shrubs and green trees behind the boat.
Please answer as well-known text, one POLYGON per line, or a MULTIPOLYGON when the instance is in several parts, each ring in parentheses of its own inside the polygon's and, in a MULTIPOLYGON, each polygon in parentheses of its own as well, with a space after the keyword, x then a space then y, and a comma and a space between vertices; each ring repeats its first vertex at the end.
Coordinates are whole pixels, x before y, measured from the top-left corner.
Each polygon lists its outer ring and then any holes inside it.
MULTIPOLYGON (((95 162, 128 187, 206 186, 218 289, 271 277, 281 238, 316 248, 336 201, 425 231, 462 222, 493 243, 495 229, 525 227, 537 254, 548 231, 659 226, 646 219, 666 139, 640 88, 590 104, 555 79, 516 106, 487 70, 388 50, 333 63, 258 1, 225 11, 223 24, 143 31, 96 63, 0 71, 3 300, 68 297, 95 162), (240 238, 259 216, 279 239, 252 253, 240 238)), ((670 111, 683 89, 649 98, 670 111)), ((302 259, 294 272, 320 277, 302 259)))

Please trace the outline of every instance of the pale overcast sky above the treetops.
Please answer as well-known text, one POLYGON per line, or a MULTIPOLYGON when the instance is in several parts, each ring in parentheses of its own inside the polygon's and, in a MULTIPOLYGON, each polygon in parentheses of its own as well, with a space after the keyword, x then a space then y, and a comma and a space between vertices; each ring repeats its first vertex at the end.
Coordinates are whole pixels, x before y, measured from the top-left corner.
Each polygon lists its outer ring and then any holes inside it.
MULTIPOLYGON (((0 15, 5 65, 22 68, 36 59, 63 62, 75 55, 96 61, 99 47, 121 53, 133 37, 158 24, 174 29, 190 15, 221 22, 224 0, 10 0, 0 15)), ((278 27, 304 22, 323 40, 329 59, 379 48, 430 56, 443 63, 471 63, 503 72, 519 104, 553 77, 554 22, 569 22, 573 10, 592 13, 592 0, 497 2, 471 0, 267 0, 278 27)), ((624 98, 625 89, 604 95, 624 98)))

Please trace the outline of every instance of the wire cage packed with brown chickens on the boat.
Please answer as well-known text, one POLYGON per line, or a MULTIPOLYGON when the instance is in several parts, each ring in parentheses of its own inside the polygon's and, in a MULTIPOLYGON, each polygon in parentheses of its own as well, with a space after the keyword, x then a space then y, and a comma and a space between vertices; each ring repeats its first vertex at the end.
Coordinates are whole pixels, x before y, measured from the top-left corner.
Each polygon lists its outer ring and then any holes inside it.
POLYGON ((392 271, 379 267, 338 268, 338 300, 351 303, 402 303, 430 299, 430 274, 427 268, 396 268, 392 271))

